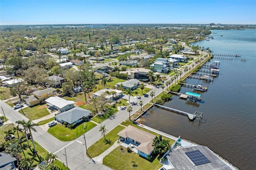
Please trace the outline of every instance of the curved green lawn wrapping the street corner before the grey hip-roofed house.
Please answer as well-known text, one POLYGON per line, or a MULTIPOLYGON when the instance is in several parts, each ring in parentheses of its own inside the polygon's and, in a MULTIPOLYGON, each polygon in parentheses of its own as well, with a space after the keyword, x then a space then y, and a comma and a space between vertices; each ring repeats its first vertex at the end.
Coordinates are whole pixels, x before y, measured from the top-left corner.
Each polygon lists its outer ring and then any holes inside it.
POLYGON ((94 126, 96 126, 95 123, 84 122, 78 125, 75 129, 70 129, 68 127, 65 128, 65 126, 62 124, 56 124, 55 126, 49 128, 47 132, 49 132, 59 140, 70 141, 78 138, 82 134, 92 129, 94 126))

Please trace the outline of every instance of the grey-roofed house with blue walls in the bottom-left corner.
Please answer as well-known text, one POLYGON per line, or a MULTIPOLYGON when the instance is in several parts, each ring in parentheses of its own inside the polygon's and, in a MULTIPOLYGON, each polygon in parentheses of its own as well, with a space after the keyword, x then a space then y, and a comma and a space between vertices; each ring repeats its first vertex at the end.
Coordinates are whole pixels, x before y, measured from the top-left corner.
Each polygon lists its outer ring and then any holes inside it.
POLYGON ((5 152, 0 153, 0 170, 14 170, 16 169, 14 161, 16 158, 5 152))

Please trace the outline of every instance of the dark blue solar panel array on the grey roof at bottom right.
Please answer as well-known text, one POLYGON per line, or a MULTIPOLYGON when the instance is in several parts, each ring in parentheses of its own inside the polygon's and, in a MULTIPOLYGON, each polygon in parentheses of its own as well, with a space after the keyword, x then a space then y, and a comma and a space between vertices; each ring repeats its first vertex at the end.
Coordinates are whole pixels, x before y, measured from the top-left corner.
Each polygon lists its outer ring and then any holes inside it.
POLYGON ((195 164, 195 165, 202 165, 206 163, 210 163, 210 160, 208 160, 202 152, 199 150, 193 150, 190 152, 185 152, 185 154, 190 158, 190 160, 195 164))

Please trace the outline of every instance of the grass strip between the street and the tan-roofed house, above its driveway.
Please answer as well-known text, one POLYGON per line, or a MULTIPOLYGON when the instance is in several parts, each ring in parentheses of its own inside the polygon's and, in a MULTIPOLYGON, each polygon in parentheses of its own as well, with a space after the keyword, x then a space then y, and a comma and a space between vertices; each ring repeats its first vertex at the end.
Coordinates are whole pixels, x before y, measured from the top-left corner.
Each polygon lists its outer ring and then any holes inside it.
POLYGON ((105 150, 107 150, 108 148, 110 148, 110 146, 112 146, 114 144, 114 142, 116 140, 118 140, 118 132, 120 132, 121 130, 123 130, 124 127, 123 126, 116 126, 116 128, 114 128, 113 130, 111 130, 110 132, 108 132, 105 136, 106 139, 110 142, 106 142, 104 140, 104 137, 100 138, 100 140, 98 140, 96 143, 92 144, 92 146, 90 146, 87 149, 88 154, 94 158, 96 156, 99 156, 100 154, 102 154, 105 150))

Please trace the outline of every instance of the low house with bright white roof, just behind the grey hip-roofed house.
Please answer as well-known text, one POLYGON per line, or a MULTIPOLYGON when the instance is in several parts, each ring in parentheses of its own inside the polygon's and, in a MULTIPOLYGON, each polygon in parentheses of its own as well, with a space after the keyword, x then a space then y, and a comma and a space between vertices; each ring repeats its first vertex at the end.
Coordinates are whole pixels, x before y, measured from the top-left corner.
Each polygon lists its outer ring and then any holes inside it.
POLYGON ((60 110, 61 112, 74 108, 75 103, 73 101, 65 100, 58 96, 50 97, 45 101, 48 106, 50 106, 51 108, 55 108, 56 110, 60 110))

